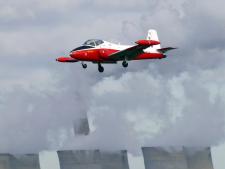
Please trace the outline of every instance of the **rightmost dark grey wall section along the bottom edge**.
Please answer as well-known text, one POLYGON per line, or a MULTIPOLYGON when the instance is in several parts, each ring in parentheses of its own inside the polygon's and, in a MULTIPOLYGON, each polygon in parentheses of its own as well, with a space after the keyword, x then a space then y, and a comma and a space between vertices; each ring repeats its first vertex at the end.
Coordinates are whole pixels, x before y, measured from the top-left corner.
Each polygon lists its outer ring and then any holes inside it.
POLYGON ((208 147, 146 147, 142 151, 146 169, 213 169, 208 147))

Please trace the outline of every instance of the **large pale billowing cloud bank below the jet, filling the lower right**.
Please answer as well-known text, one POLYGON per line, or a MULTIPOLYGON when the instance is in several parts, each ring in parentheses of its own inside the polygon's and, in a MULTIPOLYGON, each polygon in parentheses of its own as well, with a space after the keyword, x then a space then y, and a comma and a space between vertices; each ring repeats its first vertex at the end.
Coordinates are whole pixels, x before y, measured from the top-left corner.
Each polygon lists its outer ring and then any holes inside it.
POLYGON ((155 67, 92 87, 88 115, 92 133, 65 148, 128 149, 141 146, 213 146, 224 141, 224 65, 164 77, 155 67))

